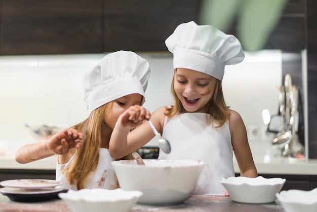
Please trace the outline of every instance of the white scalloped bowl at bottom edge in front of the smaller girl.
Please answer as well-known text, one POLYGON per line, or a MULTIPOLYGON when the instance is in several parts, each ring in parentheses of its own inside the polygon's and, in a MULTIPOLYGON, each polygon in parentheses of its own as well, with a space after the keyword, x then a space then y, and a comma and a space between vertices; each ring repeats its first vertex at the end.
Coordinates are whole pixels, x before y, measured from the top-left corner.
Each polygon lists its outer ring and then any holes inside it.
POLYGON ((59 193, 58 196, 68 204, 73 212, 128 212, 142 196, 142 192, 98 188, 68 190, 67 193, 59 193))

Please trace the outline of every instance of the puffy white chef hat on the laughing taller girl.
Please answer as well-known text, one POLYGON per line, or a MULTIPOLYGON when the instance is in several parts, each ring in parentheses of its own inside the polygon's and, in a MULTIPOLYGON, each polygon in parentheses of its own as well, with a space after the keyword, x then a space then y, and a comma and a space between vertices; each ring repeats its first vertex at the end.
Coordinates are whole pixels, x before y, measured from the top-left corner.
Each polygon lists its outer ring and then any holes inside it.
POLYGON ((243 61, 239 40, 211 25, 194 21, 178 25, 165 44, 174 54, 175 68, 196 70, 222 81, 224 66, 243 61))

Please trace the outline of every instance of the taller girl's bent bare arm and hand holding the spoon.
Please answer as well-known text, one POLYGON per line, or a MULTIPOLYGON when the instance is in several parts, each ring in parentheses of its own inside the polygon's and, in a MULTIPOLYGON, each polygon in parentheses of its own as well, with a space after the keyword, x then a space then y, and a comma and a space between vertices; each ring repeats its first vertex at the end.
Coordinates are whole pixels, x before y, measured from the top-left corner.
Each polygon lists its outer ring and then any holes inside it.
POLYGON ((159 132, 162 132, 161 121, 157 115, 160 111, 157 111, 151 115, 145 108, 133 105, 121 114, 115 124, 109 142, 111 157, 122 158, 148 143, 155 136, 146 121, 150 118, 154 127, 159 132), (130 132, 131 129, 134 130, 130 132))

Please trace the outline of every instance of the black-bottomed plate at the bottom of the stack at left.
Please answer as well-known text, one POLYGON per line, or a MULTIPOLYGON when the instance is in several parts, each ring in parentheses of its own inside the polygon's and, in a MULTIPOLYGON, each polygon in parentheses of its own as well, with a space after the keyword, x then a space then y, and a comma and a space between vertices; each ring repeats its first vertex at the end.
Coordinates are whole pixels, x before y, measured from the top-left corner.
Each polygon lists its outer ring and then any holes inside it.
POLYGON ((11 201, 15 202, 41 202, 52 199, 59 199, 58 194, 67 191, 67 189, 55 188, 39 189, 36 191, 28 191, 9 187, 0 189, 0 192, 3 195, 6 195, 11 201))

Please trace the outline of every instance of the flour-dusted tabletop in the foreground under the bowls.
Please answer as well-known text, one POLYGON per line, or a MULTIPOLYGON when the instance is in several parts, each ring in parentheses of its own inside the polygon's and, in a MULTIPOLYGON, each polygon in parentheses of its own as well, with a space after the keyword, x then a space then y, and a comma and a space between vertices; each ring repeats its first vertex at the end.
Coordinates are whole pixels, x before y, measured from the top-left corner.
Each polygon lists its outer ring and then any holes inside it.
MULTIPOLYGON (((0 194, 0 211, 21 211, 21 212, 71 212, 68 205, 61 199, 45 201, 22 203, 10 201, 7 196, 0 194)), ((193 195, 191 198, 182 204, 173 206, 147 206, 136 204, 131 209, 131 212, 146 212, 146 211, 190 211, 190 212, 283 212, 284 209, 280 204, 275 202, 265 204, 247 204, 239 203, 231 200, 230 197, 212 196, 212 195, 193 195)))

